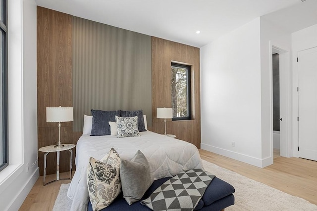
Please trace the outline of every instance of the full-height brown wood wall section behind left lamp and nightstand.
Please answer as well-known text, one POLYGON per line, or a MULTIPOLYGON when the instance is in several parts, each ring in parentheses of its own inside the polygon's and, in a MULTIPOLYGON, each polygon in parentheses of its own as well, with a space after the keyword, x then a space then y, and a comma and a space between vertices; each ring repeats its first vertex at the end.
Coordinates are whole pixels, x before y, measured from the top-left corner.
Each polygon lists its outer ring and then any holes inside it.
MULTIPOLYGON (((71 24, 71 15, 37 7, 38 148, 58 141, 57 123, 46 122, 46 107, 72 107, 71 24)), ((76 143, 73 136, 76 134, 72 122, 62 123, 62 143, 76 143)), ((69 159, 69 151, 60 153, 61 172, 69 170, 69 159)), ((43 175, 43 160, 44 153, 39 152, 40 175, 43 175)), ((56 173, 56 153, 49 153, 47 174, 53 173, 56 173)))

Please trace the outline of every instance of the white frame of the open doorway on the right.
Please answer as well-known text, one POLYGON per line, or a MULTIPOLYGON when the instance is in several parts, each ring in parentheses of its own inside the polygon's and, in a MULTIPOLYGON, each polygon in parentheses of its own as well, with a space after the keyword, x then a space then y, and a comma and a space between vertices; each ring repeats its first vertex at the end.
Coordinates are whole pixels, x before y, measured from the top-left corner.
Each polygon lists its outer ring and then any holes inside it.
POLYGON ((272 54, 279 54, 279 81, 280 81, 280 156, 292 157, 291 138, 291 69, 290 52, 270 44, 270 143, 273 157, 273 67, 272 54))

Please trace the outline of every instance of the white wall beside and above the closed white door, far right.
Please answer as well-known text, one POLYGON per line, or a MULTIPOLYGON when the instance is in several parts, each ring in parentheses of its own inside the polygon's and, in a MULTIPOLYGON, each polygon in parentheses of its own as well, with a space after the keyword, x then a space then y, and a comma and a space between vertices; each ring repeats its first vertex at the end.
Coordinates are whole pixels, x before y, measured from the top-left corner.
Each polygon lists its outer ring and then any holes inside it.
POLYGON ((317 46, 317 24, 292 33, 292 130, 293 156, 298 157, 298 94, 297 94, 297 56, 298 51, 317 46))

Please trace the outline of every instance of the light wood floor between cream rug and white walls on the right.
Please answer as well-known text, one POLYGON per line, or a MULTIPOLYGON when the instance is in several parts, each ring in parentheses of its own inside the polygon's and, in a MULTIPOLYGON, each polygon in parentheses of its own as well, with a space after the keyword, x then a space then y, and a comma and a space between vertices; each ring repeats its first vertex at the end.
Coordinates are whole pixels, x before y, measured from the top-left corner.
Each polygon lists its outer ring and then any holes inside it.
POLYGON ((302 158, 277 157, 274 163, 258 168, 206 150, 201 158, 219 167, 232 170, 293 196, 317 205, 317 162, 302 158))

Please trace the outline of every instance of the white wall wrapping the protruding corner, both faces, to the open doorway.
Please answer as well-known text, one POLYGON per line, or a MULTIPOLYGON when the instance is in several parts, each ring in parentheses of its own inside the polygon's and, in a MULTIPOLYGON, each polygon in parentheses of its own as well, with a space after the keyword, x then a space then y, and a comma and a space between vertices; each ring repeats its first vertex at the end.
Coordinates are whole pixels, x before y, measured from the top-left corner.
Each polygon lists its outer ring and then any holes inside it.
POLYGON ((262 168, 273 163, 272 45, 285 50, 281 104, 290 140, 291 34, 259 17, 201 48, 202 149, 262 168))

